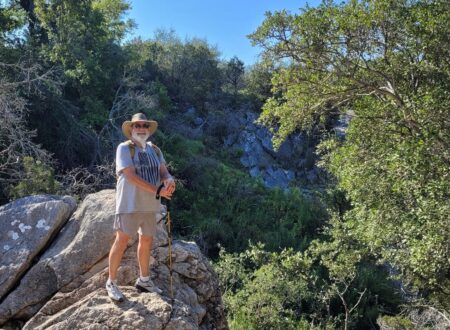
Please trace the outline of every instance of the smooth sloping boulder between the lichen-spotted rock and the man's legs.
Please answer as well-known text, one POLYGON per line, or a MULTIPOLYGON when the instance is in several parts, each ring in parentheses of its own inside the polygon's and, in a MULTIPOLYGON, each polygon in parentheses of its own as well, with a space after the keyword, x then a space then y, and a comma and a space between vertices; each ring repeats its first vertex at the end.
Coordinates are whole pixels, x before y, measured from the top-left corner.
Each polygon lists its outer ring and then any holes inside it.
POLYGON ((30 318, 58 289, 108 253, 115 208, 110 192, 89 195, 83 201, 52 246, 0 303, 0 324, 12 317, 30 318))

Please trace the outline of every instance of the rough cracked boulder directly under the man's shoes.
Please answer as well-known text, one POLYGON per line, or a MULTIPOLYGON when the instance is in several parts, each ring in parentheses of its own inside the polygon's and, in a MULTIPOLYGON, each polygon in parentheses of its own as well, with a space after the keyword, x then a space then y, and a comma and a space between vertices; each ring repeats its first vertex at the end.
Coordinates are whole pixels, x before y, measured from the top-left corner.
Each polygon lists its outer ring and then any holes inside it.
MULTIPOLYGON (((159 247, 160 251, 152 258, 153 281, 163 293, 140 293, 133 287, 139 275, 135 242, 126 251, 119 268, 118 284, 125 295, 124 302, 113 303, 108 298, 104 288, 108 261, 104 258, 90 271, 61 288, 23 329, 227 329, 220 293, 214 290, 217 282, 208 282, 213 273, 203 276, 203 280, 193 281, 198 282, 194 285, 191 279, 175 270, 179 262, 199 260, 193 245, 175 242, 174 250, 178 254, 173 254, 173 298, 170 271, 164 259, 169 258, 167 247, 159 247), (181 251, 182 246, 188 249, 181 251), (163 259, 158 260, 159 257, 163 259), (202 287, 208 289, 199 289, 202 287), (214 296, 215 292, 219 295, 214 296)), ((201 273, 209 266, 200 263, 199 270, 195 270, 195 265, 191 268, 187 273, 189 276, 201 273)))

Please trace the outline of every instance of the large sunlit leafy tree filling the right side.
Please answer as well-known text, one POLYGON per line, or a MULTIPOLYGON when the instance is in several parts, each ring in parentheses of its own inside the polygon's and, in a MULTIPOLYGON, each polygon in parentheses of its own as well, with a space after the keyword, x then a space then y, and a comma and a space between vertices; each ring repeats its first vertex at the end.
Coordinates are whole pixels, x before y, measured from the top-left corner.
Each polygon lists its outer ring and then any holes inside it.
POLYGON ((251 35, 278 64, 261 122, 275 144, 336 113, 325 166, 347 192, 346 230, 405 283, 449 307, 450 10, 447 1, 325 1, 268 13, 251 35), (274 127, 274 123, 277 126, 274 127))

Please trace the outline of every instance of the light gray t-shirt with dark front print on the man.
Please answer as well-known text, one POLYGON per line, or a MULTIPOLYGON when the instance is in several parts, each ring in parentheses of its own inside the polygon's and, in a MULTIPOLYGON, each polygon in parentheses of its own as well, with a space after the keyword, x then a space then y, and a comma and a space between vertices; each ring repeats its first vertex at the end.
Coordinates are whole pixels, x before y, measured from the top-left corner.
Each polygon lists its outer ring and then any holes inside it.
POLYGON ((159 187, 160 165, 165 163, 162 152, 159 157, 147 142, 145 148, 135 145, 134 159, 131 159, 130 147, 127 143, 119 144, 116 151, 116 214, 121 213, 150 213, 159 212, 160 201, 155 198, 155 193, 145 191, 130 183, 123 175, 123 170, 134 166, 136 174, 145 181, 159 187))

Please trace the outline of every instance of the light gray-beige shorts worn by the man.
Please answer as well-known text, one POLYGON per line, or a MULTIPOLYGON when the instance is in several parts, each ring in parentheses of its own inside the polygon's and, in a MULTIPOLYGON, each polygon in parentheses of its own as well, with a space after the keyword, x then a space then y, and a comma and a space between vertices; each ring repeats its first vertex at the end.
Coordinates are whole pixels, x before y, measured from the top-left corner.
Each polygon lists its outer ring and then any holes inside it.
POLYGON ((136 232, 145 236, 155 236, 156 214, 156 212, 116 214, 114 230, 123 231, 128 236, 133 236, 136 232))

